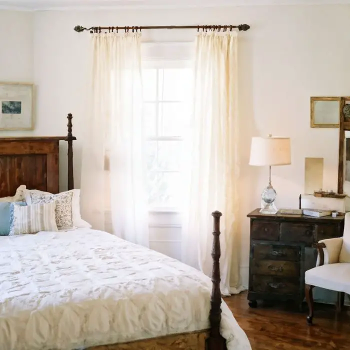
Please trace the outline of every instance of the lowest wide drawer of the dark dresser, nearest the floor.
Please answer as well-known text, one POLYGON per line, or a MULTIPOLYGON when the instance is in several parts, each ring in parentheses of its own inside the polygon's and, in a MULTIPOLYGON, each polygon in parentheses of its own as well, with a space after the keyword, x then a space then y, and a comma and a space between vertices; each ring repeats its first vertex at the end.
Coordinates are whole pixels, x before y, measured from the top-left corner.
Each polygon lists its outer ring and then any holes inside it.
POLYGON ((277 294, 295 294, 300 290, 298 278, 279 278, 254 275, 252 280, 252 291, 277 294))

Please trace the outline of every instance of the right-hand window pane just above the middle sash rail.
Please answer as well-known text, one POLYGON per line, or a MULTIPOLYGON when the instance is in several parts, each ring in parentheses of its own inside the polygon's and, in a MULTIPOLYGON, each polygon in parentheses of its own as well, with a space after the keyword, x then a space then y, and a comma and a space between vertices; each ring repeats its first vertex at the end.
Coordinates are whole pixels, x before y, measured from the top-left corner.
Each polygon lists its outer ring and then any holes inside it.
POLYGON ((189 118, 183 102, 160 102, 158 117, 161 136, 183 136, 184 121, 189 118))

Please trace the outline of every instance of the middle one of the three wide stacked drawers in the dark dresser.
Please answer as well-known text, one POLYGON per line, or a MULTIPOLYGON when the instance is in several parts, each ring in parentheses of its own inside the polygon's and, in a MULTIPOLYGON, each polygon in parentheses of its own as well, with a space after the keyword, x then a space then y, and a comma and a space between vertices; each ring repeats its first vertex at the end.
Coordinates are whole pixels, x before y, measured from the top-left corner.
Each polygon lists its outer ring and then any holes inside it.
POLYGON ((300 275, 300 262, 253 259, 253 274, 298 277, 300 275))

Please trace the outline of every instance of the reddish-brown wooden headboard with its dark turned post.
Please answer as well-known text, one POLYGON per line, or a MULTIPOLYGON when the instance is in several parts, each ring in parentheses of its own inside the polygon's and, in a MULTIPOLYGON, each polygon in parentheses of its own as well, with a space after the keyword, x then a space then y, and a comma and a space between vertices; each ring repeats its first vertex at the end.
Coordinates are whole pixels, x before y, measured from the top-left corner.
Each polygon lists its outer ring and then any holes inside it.
POLYGON ((74 188, 72 115, 67 136, 0 137, 0 197, 14 195, 25 184, 30 189, 59 192, 59 141, 68 142, 68 189, 74 188))

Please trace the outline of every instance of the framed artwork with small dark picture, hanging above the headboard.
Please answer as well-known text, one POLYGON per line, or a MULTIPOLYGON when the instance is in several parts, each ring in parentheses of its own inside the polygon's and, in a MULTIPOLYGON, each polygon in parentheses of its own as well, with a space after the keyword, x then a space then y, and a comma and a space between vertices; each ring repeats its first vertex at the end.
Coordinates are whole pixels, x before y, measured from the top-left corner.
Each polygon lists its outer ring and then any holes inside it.
POLYGON ((0 130, 33 129, 33 85, 0 82, 0 130))

